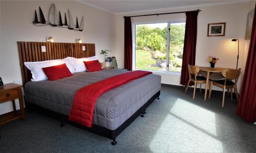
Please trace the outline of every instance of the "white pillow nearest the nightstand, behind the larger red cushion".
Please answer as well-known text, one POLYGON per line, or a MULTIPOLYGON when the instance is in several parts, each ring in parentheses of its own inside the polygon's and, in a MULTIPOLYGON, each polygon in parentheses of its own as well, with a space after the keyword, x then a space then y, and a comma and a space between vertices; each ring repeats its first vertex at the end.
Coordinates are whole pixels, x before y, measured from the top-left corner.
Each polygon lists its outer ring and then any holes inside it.
POLYGON ((56 59, 56 60, 46 60, 37 62, 24 62, 25 66, 31 71, 32 79, 31 81, 42 81, 47 80, 47 76, 42 70, 42 68, 52 67, 55 65, 60 65, 66 63, 69 71, 75 73, 75 68, 68 59, 56 59))

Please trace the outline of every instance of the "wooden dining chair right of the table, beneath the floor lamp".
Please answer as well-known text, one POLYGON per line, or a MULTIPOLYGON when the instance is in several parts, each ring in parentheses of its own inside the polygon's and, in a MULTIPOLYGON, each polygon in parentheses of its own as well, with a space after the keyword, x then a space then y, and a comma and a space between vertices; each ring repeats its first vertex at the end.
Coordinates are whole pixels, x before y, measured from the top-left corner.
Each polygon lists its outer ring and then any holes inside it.
POLYGON ((224 107, 224 99, 225 99, 225 90, 227 89, 227 91, 229 92, 229 90, 231 89, 230 92, 230 97, 231 100, 232 98, 232 90, 234 89, 236 91, 236 96, 237 99, 238 97, 238 87, 237 87, 237 82, 241 73, 241 68, 238 70, 231 70, 231 69, 224 69, 222 70, 222 75, 224 77, 224 79, 222 80, 211 80, 210 81, 210 90, 209 90, 209 97, 208 99, 210 99, 211 97, 211 89, 212 89, 212 85, 218 86, 219 88, 223 89, 223 96, 222 96, 222 107, 224 107), (232 80, 235 80, 234 82, 232 80))

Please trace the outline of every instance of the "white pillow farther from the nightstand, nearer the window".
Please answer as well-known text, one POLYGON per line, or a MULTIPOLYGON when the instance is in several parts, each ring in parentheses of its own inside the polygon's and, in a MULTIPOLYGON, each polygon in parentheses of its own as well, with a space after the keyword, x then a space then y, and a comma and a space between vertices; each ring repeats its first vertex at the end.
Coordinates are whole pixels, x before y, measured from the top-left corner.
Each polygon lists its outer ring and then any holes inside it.
POLYGON ((87 70, 86 65, 84 65, 83 61, 98 60, 96 56, 86 57, 86 58, 67 57, 65 59, 69 59, 69 61, 72 63, 73 67, 75 68, 76 72, 83 72, 87 70))

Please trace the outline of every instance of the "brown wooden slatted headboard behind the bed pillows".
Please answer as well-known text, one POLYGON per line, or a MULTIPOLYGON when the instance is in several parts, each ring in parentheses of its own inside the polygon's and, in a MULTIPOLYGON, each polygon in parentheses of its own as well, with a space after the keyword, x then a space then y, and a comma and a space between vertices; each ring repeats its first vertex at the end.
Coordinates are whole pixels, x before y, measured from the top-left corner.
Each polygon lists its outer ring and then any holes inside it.
POLYGON ((63 42, 24 42, 17 41, 20 70, 22 71, 23 85, 32 78, 24 62, 62 59, 66 57, 92 57, 95 56, 94 43, 63 43, 63 42), (41 52, 41 46, 46 46, 46 52, 41 52), (86 51, 82 51, 82 46, 86 51))

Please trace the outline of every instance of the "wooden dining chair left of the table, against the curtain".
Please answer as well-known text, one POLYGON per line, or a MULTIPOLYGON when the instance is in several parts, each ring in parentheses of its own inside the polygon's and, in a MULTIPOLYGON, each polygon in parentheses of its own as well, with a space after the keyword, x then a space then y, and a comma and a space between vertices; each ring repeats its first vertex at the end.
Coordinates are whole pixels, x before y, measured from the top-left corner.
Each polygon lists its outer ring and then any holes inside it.
POLYGON ((185 93, 187 92, 189 83, 191 81, 194 82, 195 87, 194 87, 193 100, 195 99, 197 84, 200 84, 200 93, 201 93, 202 83, 206 83, 206 78, 203 76, 199 76, 198 74, 199 71, 200 71, 200 68, 197 65, 188 65, 189 80, 187 82, 185 93))

